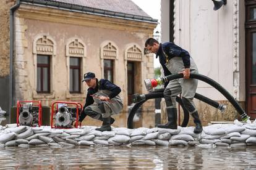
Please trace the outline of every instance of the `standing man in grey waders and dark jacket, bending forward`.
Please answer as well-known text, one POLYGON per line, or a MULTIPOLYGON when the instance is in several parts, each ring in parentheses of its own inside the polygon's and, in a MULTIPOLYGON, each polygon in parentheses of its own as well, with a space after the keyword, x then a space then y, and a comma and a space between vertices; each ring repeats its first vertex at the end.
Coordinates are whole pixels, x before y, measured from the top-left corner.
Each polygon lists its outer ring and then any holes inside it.
POLYGON ((197 90, 197 79, 190 79, 191 73, 198 73, 197 65, 190 57, 189 52, 182 49, 172 42, 165 42, 159 44, 153 38, 148 38, 145 42, 145 49, 148 53, 153 52, 164 70, 164 76, 171 74, 182 73, 184 78, 174 79, 165 84, 164 100, 166 103, 166 111, 168 116, 168 123, 159 124, 160 128, 177 129, 177 108, 176 96, 182 95, 182 102, 190 115, 194 118, 195 133, 203 131, 202 123, 200 121, 197 108, 193 102, 195 91, 197 90))

